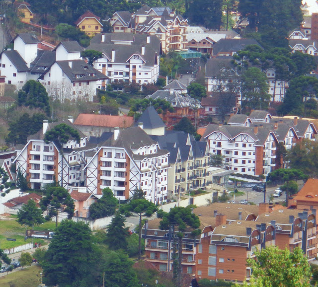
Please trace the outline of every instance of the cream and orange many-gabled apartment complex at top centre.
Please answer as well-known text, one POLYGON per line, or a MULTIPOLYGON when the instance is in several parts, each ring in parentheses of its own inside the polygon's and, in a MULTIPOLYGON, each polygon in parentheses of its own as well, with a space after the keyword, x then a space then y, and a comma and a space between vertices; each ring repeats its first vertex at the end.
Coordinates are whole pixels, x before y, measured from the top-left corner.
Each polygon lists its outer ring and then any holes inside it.
POLYGON ((149 7, 143 5, 136 13, 129 11, 115 12, 110 19, 115 33, 135 32, 157 36, 162 44, 162 51, 187 50, 188 20, 175 14, 169 7, 149 7))

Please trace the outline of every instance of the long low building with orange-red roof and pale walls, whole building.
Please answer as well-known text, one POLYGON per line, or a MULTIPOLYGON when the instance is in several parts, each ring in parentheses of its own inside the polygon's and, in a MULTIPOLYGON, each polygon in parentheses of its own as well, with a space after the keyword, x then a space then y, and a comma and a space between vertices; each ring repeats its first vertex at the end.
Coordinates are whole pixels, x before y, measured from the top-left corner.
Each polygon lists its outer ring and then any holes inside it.
POLYGON ((79 114, 74 125, 86 137, 100 137, 105 132, 114 132, 116 127, 126 129, 132 127, 134 117, 95 114, 79 114))

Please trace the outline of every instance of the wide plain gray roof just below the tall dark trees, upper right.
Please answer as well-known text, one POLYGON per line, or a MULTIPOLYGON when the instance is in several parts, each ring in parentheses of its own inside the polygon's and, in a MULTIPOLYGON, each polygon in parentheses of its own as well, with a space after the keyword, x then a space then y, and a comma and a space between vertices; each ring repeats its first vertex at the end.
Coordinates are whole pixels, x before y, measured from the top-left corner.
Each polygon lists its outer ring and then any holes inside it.
POLYGON ((243 50, 247 45, 258 45, 254 39, 220 39, 213 45, 213 56, 219 53, 238 52, 243 50))

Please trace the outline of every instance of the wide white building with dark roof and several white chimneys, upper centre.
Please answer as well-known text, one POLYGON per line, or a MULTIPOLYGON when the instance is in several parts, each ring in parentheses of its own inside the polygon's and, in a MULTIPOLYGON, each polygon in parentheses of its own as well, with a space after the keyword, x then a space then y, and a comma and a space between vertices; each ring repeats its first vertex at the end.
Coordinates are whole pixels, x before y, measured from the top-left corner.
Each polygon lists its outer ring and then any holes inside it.
MULTIPOLYGON (((159 77, 160 40, 153 35, 132 33, 103 33, 95 35, 90 50, 103 57, 94 61, 94 68, 110 81, 154 83, 159 77)), ((98 81, 97 87, 104 90, 106 81, 98 81)))

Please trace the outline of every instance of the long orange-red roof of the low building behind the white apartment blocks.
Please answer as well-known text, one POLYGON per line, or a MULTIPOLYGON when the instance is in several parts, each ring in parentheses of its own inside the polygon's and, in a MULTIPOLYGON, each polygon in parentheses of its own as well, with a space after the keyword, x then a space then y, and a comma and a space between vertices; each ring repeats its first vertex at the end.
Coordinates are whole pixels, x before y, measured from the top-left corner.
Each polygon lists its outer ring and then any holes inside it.
POLYGON ((133 117, 109 116, 95 114, 79 114, 74 125, 95 126, 95 127, 119 127, 121 129, 130 128, 134 123, 133 117))

